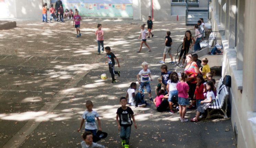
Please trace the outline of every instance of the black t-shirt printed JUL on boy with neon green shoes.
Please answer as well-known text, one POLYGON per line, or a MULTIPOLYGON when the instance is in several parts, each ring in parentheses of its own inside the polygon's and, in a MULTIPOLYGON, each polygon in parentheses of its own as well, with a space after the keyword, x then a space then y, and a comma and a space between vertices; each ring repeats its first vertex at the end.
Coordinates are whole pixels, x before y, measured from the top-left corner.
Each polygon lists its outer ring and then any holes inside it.
POLYGON ((133 115, 133 111, 130 107, 126 106, 126 109, 122 109, 122 107, 119 107, 116 111, 116 114, 119 115, 119 124, 120 126, 131 126, 132 120, 131 115, 133 115))

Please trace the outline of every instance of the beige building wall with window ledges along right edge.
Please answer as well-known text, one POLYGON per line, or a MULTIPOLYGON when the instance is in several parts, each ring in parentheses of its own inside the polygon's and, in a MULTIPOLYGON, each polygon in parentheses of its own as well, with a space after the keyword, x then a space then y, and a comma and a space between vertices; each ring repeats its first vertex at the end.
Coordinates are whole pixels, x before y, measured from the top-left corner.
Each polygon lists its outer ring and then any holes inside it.
POLYGON ((222 0, 220 4, 212 0, 212 5, 212 30, 220 32, 218 37, 224 48, 222 76, 232 77, 229 97, 237 148, 255 148, 256 126, 248 119, 256 117, 256 1, 237 0, 236 4, 236 0, 222 0))

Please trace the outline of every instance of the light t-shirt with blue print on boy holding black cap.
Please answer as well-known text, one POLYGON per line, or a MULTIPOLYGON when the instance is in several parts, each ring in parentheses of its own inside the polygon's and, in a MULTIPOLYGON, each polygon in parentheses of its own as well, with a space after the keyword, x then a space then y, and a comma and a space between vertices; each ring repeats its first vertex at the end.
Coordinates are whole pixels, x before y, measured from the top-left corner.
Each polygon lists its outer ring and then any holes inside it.
POLYGON ((85 111, 82 116, 82 118, 85 119, 85 128, 88 130, 96 130, 97 124, 95 122, 95 118, 97 117, 99 117, 97 111, 85 111))

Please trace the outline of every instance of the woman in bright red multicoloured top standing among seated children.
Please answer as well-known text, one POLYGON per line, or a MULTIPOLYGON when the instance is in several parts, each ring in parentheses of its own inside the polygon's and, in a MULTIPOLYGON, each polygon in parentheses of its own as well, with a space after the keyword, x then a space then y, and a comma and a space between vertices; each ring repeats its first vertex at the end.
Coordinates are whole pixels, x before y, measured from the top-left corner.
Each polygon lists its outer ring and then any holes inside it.
POLYGON ((185 67, 184 71, 188 76, 188 96, 191 98, 192 101, 192 104, 188 107, 188 109, 196 109, 196 99, 194 99, 194 92, 197 86, 197 76, 199 75, 199 68, 197 66, 197 63, 194 62, 192 54, 187 54, 186 60, 187 66, 185 67))

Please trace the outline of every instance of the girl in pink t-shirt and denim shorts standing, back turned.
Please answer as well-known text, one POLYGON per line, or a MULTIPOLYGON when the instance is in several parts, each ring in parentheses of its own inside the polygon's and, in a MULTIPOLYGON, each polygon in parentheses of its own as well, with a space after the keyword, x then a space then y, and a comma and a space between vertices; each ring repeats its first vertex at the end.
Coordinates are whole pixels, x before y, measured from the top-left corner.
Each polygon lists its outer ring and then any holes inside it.
POLYGON ((189 86, 186 83, 188 76, 186 73, 181 73, 181 81, 177 83, 176 88, 178 90, 178 104, 180 106, 179 114, 181 122, 188 122, 188 119, 185 119, 186 106, 189 105, 188 101, 188 91, 189 86))

